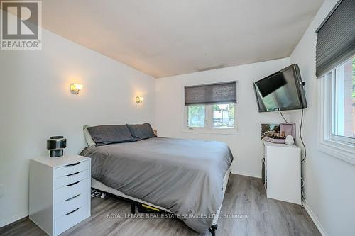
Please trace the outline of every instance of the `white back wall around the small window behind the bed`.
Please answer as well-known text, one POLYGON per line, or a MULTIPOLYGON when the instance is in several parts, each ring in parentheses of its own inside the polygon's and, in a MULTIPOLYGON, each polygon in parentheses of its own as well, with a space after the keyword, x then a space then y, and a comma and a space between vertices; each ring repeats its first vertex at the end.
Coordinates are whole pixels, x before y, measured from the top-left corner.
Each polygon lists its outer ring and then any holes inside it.
MULTIPOLYGON (((246 64, 205 72, 182 74, 156 79, 155 124, 158 135, 165 137, 196 138, 226 142, 234 154, 232 172, 261 177, 263 155, 260 140, 261 123, 282 123, 279 113, 258 113, 252 83, 290 64, 289 58, 246 64), (185 133, 184 86, 214 82, 238 81, 236 123, 239 135, 185 133)), ((285 115, 288 117, 288 115, 285 115)))

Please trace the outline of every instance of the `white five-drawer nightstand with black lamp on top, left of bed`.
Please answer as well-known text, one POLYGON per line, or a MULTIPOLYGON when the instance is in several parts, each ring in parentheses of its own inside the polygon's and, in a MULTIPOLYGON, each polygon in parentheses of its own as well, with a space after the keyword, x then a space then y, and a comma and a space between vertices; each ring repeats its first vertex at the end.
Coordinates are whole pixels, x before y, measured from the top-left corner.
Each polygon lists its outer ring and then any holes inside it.
POLYGON ((29 218, 59 235, 90 216, 91 159, 78 155, 30 160, 29 218))

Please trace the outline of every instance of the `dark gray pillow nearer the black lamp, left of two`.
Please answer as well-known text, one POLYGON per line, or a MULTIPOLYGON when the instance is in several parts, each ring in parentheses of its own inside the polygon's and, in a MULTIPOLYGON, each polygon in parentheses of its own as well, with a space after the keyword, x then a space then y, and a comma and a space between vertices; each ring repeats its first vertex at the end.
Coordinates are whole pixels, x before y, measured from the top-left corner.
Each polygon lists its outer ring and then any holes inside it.
POLYGON ((99 125, 88 127, 87 130, 97 146, 135 141, 127 125, 99 125))

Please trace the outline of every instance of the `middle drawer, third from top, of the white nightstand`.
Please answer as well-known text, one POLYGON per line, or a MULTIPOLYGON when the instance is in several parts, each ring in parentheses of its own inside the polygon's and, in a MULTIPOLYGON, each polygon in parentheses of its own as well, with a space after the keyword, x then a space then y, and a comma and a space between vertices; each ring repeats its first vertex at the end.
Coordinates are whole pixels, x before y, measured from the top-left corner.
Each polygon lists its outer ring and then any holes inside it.
POLYGON ((55 189, 55 203, 60 203, 85 191, 89 192, 89 189, 89 178, 77 181, 60 189, 55 189))

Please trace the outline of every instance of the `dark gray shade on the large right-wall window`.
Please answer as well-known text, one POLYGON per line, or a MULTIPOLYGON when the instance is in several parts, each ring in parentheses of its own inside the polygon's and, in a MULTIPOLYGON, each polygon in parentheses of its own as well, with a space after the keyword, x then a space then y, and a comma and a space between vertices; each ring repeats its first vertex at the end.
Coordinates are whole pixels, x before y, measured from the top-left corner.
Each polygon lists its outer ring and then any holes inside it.
POLYGON ((319 78, 355 54, 355 0, 338 1, 316 33, 319 78))

